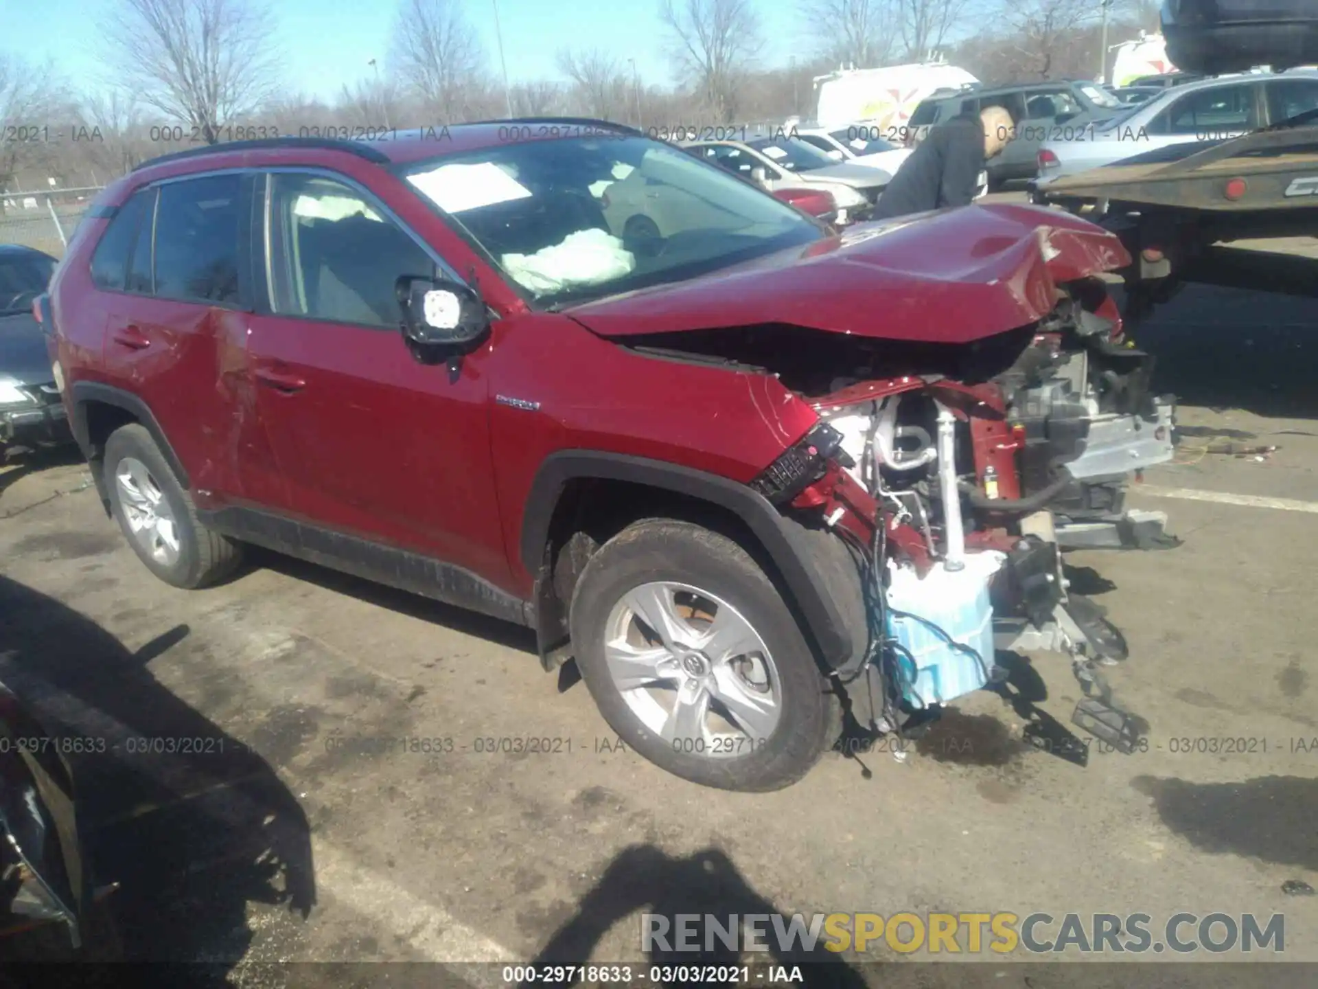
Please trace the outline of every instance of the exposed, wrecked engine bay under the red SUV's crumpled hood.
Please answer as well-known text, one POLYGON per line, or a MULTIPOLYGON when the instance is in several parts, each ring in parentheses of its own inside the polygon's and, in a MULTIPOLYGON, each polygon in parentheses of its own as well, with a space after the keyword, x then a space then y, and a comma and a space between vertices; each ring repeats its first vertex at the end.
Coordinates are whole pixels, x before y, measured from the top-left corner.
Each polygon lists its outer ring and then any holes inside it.
POLYGON ((1098 673, 1126 658, 1124 641, 1068 591, 1060 550, 1075 525, 1107 539, 1087 545, 1165 538, 1165 517, 1122 516, 1120 500, 1131 471, 1170 459, 1172 402, 1151 396, 1152 361, 1124 345, 1098 287, 1073 286, 1039 323, 969 345, 796 327, 642 344, 759 367, 818 413, 753 487, 822 512, 855 550, 874 731, 903 731, 1006 680, 996 650, 1019 649, 1070 655, 1086 695, 1073 720, 1120 750, 1137 744, 1137 720, 1111 704, 1098 673), (883 522, 863 529, 858 516, 883 522))

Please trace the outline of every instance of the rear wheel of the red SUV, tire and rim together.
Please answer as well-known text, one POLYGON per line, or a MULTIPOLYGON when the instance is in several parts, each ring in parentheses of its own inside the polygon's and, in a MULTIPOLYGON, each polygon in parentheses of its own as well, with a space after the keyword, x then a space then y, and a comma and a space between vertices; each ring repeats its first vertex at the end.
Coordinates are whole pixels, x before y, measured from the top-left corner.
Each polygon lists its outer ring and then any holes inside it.
POLYGON ((241 562, 241 547, 196 517, 159 446, 138 423, 105 442, 111 513, 137 558, 166 584, 198 588, 217 583, 241 562))

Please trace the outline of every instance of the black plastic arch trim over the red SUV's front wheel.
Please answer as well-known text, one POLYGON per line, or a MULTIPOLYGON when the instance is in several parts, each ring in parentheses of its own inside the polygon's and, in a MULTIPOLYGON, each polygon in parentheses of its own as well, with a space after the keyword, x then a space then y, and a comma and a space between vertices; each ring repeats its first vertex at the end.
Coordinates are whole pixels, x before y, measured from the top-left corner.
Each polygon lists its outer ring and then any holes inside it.
POLYGON ((720 505, 746 524, 778 567, 787 591, 804 618, 811 637, 833 669, 849 666, 857 645, 841 612, 826 589, 801 530, 784 518, 763 496, 745 484, 691 467, 647 458, 593 450, 564 450, 540 464, 527 493, 522 517, 519 553, 530 574, 539 574, 550 524, 563 488, 571 480, 597 479, 645 484, 720 505))

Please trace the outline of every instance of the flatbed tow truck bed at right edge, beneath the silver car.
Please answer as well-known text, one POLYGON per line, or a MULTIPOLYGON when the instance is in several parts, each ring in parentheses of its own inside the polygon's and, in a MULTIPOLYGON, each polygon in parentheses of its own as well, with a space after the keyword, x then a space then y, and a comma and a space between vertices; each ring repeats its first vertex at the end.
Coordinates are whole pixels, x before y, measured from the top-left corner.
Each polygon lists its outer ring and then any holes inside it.
POLYGON ((1128 324, 1189 282, 1318 297, 1318 260, 1227 247, 1318 236, 1318 111, 1039 182, 1031 198, 1122 239, 1128 324))

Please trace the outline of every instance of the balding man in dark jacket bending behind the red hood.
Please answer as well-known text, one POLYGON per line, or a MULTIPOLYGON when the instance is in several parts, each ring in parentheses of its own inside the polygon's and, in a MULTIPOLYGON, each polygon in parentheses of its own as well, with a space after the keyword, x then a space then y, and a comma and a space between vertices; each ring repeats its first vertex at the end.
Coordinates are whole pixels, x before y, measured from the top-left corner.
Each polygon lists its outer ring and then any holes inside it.
POLYGON ((969 206, 985 162, 1007 146, 1014 127, 1011 113, 1002 107, 961 113, 938 124, 902 162, 879 196, 874 219, 969 206))

